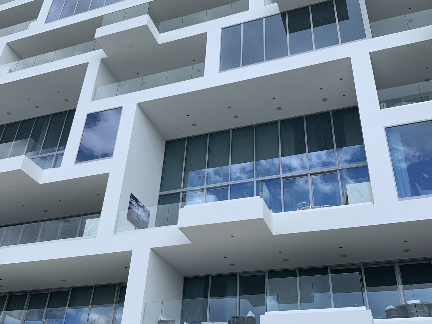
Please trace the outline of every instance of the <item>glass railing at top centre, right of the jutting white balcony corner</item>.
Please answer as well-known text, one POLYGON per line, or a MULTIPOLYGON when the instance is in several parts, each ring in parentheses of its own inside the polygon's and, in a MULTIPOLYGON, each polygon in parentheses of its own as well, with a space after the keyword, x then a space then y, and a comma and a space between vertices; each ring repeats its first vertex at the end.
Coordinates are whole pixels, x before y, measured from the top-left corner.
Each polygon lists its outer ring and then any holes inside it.
POLYGON ((187 16, 178 17, 157 23, 153 21, 160 33, 170 32, 175 29, 196 25, 201 22, 206 22, 226 16, 234 15, 249 10, 249 0, 239 0, 228 3, 224 6, 219 6, 213 9, 192 13, 187 16))

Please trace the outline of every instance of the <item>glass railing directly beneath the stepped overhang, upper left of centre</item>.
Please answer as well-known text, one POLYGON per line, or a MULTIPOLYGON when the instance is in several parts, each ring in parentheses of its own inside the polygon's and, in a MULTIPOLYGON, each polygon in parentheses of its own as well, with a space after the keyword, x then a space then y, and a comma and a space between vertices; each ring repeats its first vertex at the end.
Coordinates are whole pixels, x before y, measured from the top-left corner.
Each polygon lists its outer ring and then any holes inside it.
POLYGON ((204 76, 204 63, 194 64, 188 67, 181 67, 136 79, 121 81, 96 88, 93 100, 99 100, 116 95, 136 92, 144 89, 165 86, 166 84, 177 83, 204 76))

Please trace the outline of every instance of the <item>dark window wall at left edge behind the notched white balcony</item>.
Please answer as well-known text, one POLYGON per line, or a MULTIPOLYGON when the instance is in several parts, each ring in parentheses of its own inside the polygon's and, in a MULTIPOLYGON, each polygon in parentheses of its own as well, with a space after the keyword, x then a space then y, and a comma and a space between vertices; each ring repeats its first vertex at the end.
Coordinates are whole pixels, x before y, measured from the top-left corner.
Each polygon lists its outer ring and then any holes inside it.
POLYGON ((26 155, 41 168, 58 168, 75 109, 0 125, 0 159, 26 155))

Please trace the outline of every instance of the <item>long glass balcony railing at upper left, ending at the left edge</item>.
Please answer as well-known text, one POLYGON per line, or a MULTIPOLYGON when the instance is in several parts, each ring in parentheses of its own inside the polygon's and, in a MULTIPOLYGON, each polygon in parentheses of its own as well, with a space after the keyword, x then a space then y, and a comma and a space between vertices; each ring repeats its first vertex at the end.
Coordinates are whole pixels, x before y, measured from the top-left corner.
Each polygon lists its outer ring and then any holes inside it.
POLYGON ((11 73, 19 70, 24 70, 29 67, 35 67, 45 63, 61 60, 67 57, 76 56, 100 49, 97 41, 88 41, 83 44, 73 45, 68 48, 62 48, 57 51, 50 53, 40 54, 33 57, 28 57, 22 60, 18 60, 12 63, 3 64, 0 66, 0 75, 11 73))

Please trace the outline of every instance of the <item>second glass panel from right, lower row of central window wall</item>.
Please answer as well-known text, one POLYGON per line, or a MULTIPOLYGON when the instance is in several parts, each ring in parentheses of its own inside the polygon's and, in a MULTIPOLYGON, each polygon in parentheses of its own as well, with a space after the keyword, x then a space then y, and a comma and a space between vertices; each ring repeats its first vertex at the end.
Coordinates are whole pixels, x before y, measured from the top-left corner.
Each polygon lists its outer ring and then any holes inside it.
POLYGON ((340 191, 337 173, 312 176, 312 193, 315 206, 339 206, 340 191))

